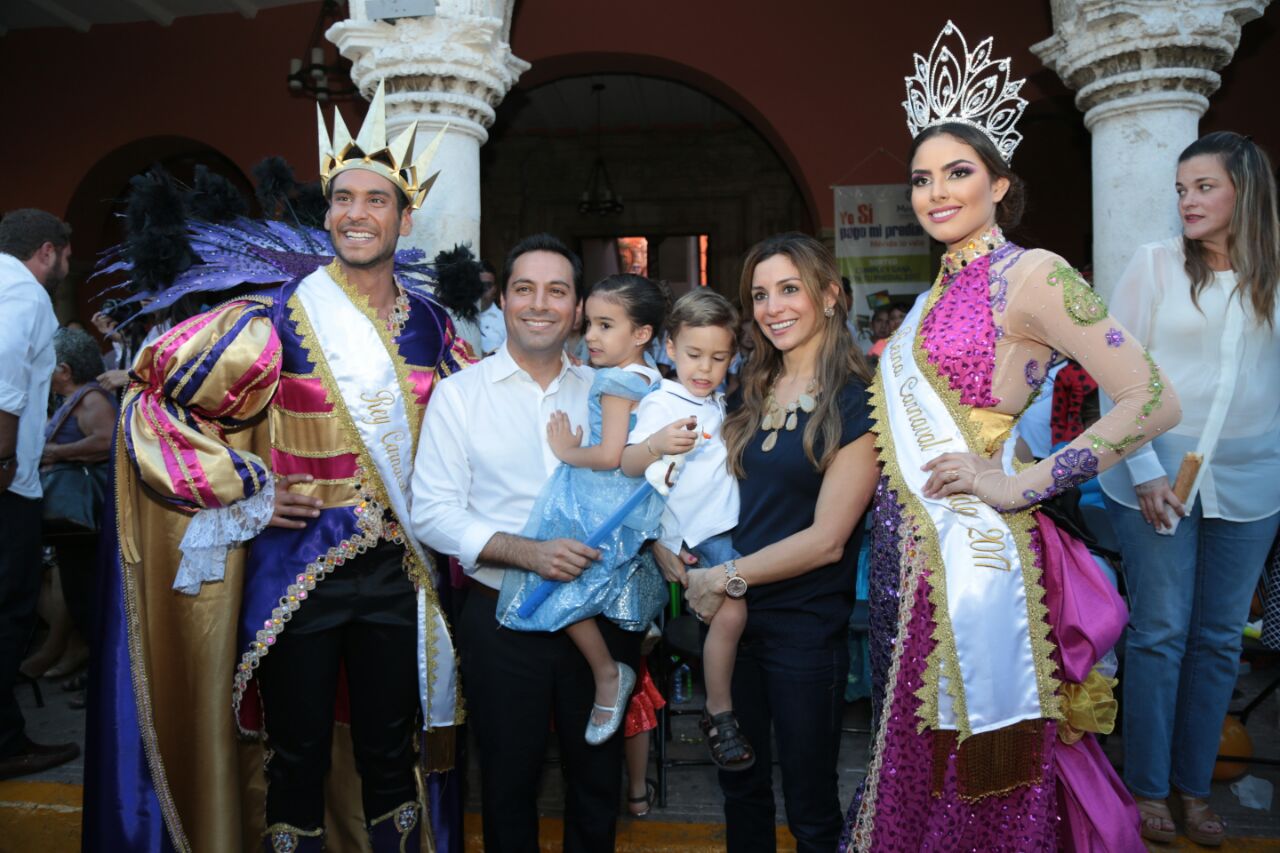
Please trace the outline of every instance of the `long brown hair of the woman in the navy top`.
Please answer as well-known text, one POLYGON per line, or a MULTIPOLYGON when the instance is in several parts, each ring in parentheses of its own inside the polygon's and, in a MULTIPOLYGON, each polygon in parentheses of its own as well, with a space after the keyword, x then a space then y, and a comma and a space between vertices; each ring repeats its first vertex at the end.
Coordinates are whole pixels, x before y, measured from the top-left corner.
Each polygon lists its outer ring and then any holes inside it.
MULTIPOLYGON (((850 377, 870 382, 872 371, 867 359, 854 346, 854 338, 845 325, 849 318, 849 302, 840 287, 836 259, 829 248, 808 234, 777 234, 751 247, 742 260, 742 278, 739 283, 742 310, 748 315, 751 314, 751 279, 755 268, 774 255, 786 255, 795 264, 804 283, 804 292, 818 313, 818 334, 822 336, 814 371, 819 392, 818 407, 805 424, 804 452, 814 469, 824 471, 840 451, 840 437, 844 432, 840 392, 850 377), (823 315, 827 293, 836 296, 835 314, 829 318, 823 315), (815 448, 822 450, 820 456, 815 448)), ((782 351, 769 342, 755 323, 751 324, 750 336, 755 350, 740 375, 742 406, 724 420, 723 426, 728 469, 740 479, 746 476, 742 452, 760 429, 764 401, 782 373, 782 351)))

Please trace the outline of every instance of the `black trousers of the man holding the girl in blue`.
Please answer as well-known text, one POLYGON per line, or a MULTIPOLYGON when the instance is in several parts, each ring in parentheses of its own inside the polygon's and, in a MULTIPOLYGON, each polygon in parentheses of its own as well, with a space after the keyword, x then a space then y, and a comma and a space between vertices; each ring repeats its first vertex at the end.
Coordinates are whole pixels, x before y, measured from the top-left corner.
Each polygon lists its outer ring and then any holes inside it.
MULTIPOLYGON (((486 853, 536 853, 538 779, 556 721, 564 772, 567 853, 614 848, 622 795, 622 733, 590 747, 584 738, 595 685, 563 633, 513 631, 494 617, 497 601, 472 588, 462 605, 458 648, 467 719, 480 758, 486 853)), ((616 660, 640 662, 640 634, 598 619, 616 660)))

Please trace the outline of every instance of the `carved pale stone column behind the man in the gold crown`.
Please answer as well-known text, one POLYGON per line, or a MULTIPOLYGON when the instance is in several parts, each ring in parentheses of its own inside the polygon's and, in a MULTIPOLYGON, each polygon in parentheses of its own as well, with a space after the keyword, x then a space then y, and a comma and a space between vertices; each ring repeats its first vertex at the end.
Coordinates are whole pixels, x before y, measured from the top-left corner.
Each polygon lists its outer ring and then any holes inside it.
POLYGON ((448 127, 431 172, 440 177, 403 242, 429 256, 454 243, 480 252, 480 146, 494 109, 529 63, 508 44, 515 0, 436 0, 435 15, 370 20, 365 0, 325 36, 352 61, 351 77, 372 97, 387 82, 387 136, 417 120, 421 151, 448 127))

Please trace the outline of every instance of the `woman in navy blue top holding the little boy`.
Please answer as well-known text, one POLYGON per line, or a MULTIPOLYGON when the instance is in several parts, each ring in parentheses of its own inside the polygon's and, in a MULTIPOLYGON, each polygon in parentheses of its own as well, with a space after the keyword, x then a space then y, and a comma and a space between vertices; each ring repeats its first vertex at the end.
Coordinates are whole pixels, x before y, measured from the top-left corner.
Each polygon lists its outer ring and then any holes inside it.
POLYGON ((741 594, 745 581, 732 697, 756 761, 719 774, 728 850, 774 849, 776 743, 796 849, 831 852, 842 822, 836 758, 859 521, 879 478, 870 370, 845 327, 836 261, 812 237, 753 247, 741 297, 755 351, 723 434, 741 492, 733 547, 744 556, 687 574, 669 555, 659 558, 703 620, 714 619, 726 588, 741 594))

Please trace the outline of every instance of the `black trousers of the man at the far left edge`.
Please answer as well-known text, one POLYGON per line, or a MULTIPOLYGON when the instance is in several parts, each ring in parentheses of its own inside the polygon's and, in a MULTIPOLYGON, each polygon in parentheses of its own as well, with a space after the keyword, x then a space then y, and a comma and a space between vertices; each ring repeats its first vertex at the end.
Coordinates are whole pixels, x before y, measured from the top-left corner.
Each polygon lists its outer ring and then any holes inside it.
POLYGON ((40 521, 38 500, 0 494, 0 758, 27 745, 26 721, 13 688, 36 628, 40 521))

